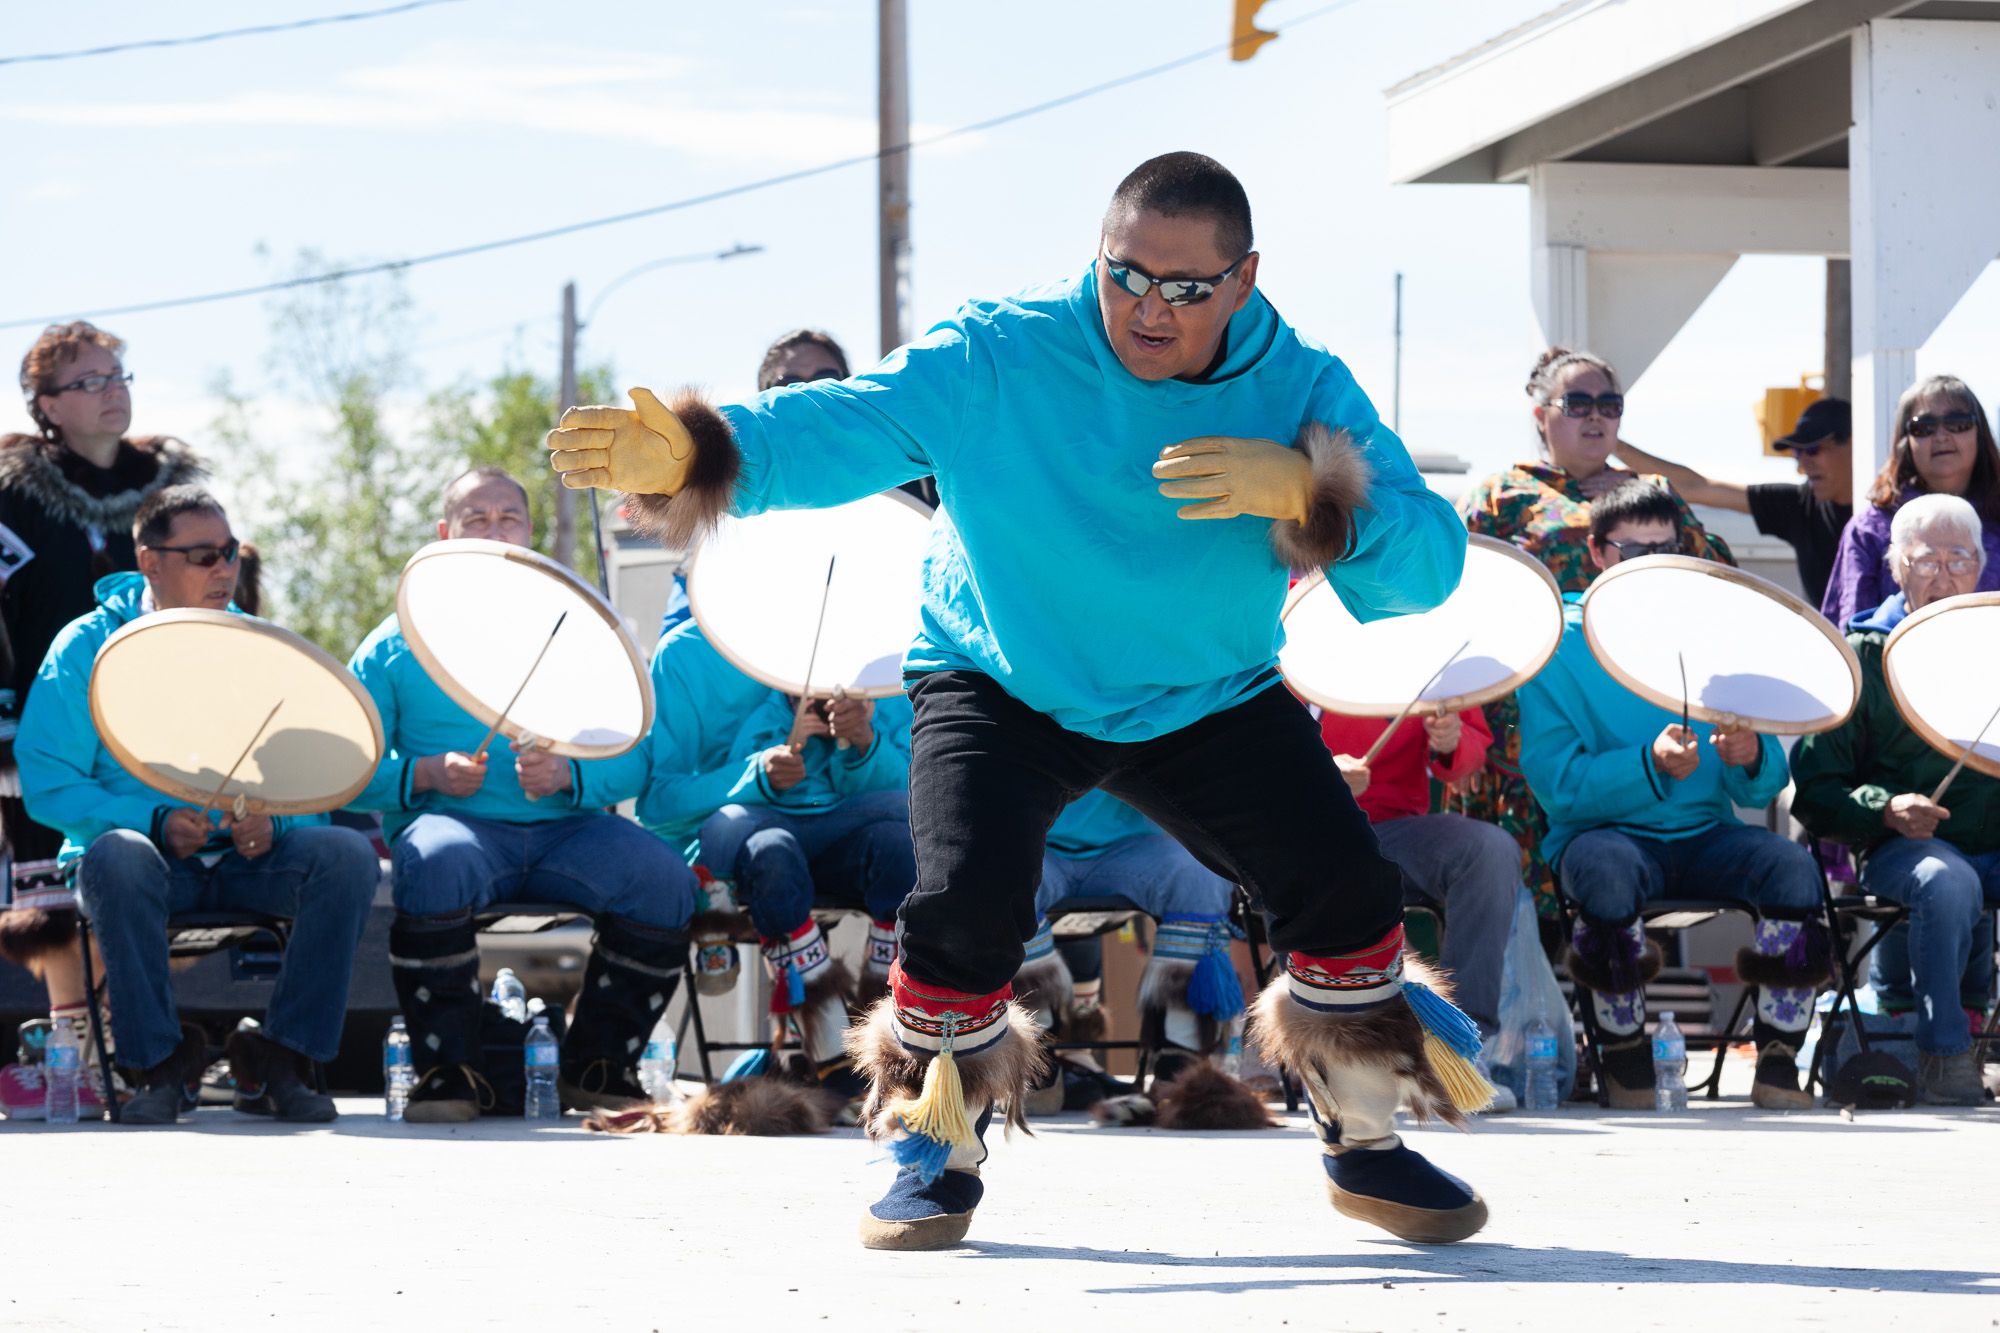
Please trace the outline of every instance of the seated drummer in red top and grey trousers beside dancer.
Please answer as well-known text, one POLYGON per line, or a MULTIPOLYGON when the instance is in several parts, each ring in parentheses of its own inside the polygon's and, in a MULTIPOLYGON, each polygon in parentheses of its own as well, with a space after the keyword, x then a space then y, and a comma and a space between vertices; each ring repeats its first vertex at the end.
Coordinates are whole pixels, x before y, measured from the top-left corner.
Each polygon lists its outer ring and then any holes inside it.
MULTIPOLYGON (((1478 709, 1406 717, 1374 763, 1364 765, 1384 727, 1374 717, 1320 715, 1320 737, 1340 777, 1374 827, 1382 855, 1402 869, 1404 901, 1444 913, 1444 967, 1456 983, 1454 999, 1490 1041, 1500 1033, 1500 967, 1514 925, 1520 845, 1496 825, 1428 811, 1432 779, 1458 783, 1486 767, 1492 731, 1478 709)), ((1492 1109, 1508 1109, 1512 1093, 1494 1091, 1492 1109)))

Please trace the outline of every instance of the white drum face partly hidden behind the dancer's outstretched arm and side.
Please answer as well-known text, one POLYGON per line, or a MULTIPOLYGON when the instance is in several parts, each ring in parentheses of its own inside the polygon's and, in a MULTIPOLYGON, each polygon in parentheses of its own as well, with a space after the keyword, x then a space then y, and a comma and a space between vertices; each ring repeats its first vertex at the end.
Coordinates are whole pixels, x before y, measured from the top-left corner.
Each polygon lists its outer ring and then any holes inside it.
POLYGON ((800 695, 810 664, 814 695, 886 699, 902 693, 928 542, 930 510, 902 492, 724 518, 688 568, 688 602, 708 642, 754 681, 800 695))

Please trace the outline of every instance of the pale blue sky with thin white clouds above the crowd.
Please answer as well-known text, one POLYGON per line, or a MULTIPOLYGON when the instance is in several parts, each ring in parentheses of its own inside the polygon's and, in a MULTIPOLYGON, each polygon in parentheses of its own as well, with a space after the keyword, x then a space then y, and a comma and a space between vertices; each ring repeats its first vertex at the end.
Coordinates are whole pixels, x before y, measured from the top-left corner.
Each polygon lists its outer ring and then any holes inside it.
MULTIPOLYGON (((328 14, 314 4, 14 10, 0 54, 328 14)), ((352 8, 368 8, 352 0, 352 8)), ((1276 0, 1264 22, 1318 8, 1276 0)), ((1412 448, 1490 470, 1530 448, 1538 350, 1526 190, 1392 188, 1382 88, 1546 0, 1356 0, 1214 56, 914 158, 914 318, 1088 262, 1104 198, 1138 160, 1198 148, 1246 182, 1278 308, 1348 360, 1388 412, 1390 284, 1406 274, 1402 424, 1412 448)), ((912 0, 916 132, 982 120, 1228 38, 1228 0, 912 0)), ((0 320, 240 286, 312 246, 396 258, 640 208, 874 148, 874 4, 466 0, 366 24, 0 68, 8 248, 0 320), (270 258, 258 256, 268 246, 270 258)), ((564 280, 588 306, 662 254, 766 246, 618 290, 584 356, 624 382, 746 392, 778 332, 820 324, 868 360, 872 166, 662 218, 410 272, 426 388, 508 364, 552 370, 564 280)), ((1922 368, 1988 394, 1988 278, 1922 368)), ((270 386, 262 300, 106 318, 132 342, 136 426, 202 444, 208 384, 262 394, 260 430, 310 458, 310 414, 270 386)), ((32 330, 4 330, 16 350, 32 330)), ((1750 402, 1820 358, 1820 262, 1744 260, 1632 394, 1628 434, 1742 478, 1750 402)), ((10 360, 12 364, 12 360, 10 360)), ((20 414, 22 428, 26 416, 20 414)), ((224 482, 224 490, 226 490, 224 482)))

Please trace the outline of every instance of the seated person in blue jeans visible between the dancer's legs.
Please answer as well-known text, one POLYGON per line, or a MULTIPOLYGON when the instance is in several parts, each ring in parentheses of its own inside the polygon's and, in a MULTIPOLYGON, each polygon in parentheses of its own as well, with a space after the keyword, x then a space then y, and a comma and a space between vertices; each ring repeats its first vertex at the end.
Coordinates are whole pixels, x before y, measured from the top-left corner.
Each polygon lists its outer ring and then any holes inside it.
MULTIPOLYGON (((1172 1079, 1218 1055, 1244 1013, 1230 961, 1230 899, 1236 889, 1188 849, 1110 793, 1072 801, 1048 831, 1034 935, 1014 977, 1014 999, 1044 1027, 1060 1021, 1070 1041, 1102 1035, 1102 969, 1078 981, 1056 951, 1050 921, 1066 911, 1142 911, 1158 923, 1138 981, 1140 1041, 1154 1051, 1154 1077, 1172 1079)), ((1052 1087, 1060 1089, 1060 1083, 1052 1087)), ((1058 1111, 1050 1097, 1030 1109, 1058 1111)))

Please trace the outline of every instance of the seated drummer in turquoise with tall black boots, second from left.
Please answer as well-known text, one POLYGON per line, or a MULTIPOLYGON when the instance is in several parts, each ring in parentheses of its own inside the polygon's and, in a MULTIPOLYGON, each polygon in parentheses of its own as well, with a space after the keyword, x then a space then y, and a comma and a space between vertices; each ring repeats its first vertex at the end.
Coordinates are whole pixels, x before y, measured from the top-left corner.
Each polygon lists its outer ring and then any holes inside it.
MULTIPOLYGON (((528 494, 500 468, 444 490, 438 536, 530 544, 528 494)), ((502 634, 508 608, 494 608, 502 634)), ((526 658, 524 658, 526 660, 526 658)), ((470 1121, 490 1105, 480 1049, 476 913, 560 903, 596 935, 576 1017, 562 1039, 562 1105, 648 1105, 638 1057, 688 961, 694 877, 680 857, 606 807, 646 783, 648 747, 576 761, 512 745, 474 753, 486 725, 428 677, 392 614, 348 669, 382 713, 386 753, 356 809, 382 811, 394 853, 390 971, 410 1025, 416 1089, 406 1119, 470 1121), (496 763, 498 761, 498 763, 496 763)))

